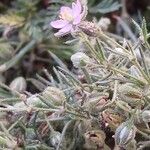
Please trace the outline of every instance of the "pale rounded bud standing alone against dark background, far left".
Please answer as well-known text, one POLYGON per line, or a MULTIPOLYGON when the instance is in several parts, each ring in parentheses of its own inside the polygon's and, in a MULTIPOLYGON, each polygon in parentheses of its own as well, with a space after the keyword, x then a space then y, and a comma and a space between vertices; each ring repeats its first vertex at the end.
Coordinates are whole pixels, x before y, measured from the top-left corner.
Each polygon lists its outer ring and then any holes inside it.
POLYGON ((23 93, 27 88, 27 83, 23 77, 17 77, 10 83, 9 87, 13 91, 23 93))

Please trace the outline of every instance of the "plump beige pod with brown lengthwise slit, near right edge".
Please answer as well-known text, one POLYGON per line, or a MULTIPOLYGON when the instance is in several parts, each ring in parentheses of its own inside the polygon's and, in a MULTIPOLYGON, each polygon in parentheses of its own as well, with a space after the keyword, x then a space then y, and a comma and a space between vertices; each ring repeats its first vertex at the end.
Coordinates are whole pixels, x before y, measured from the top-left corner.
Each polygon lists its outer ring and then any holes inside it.
POLYGON ((118 87, 119 99, 127 102, 130 106, 134 107, 138 104, 144 105, 142 90, 134 87, 133 84, 126 83, 118 87))

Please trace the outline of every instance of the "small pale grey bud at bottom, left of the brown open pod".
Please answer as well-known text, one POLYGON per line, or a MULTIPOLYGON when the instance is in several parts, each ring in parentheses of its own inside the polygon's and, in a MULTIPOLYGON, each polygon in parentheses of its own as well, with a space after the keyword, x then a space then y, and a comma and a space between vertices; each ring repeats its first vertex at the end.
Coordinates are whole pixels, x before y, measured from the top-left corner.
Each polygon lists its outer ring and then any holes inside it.
POLYGON ((52 132, 50 135, 50 143, 53 147, 57 147, 61 140, 61 133, 60 132, 52 132))

